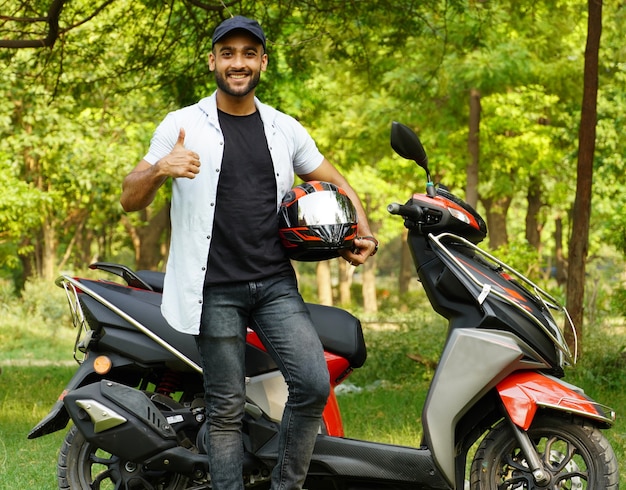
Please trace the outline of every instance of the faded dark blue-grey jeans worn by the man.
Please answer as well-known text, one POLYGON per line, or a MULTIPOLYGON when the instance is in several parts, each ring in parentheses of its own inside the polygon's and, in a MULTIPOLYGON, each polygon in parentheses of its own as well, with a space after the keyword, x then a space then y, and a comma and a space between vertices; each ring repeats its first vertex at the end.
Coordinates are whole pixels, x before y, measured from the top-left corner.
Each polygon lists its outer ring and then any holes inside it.
POLYGON ((214 490, 243 490, 246 327, 280 368, 289 399, 272 490, 301 489, 330 383, 324 351, 293 276, 205 287, 200 334, 214 490))

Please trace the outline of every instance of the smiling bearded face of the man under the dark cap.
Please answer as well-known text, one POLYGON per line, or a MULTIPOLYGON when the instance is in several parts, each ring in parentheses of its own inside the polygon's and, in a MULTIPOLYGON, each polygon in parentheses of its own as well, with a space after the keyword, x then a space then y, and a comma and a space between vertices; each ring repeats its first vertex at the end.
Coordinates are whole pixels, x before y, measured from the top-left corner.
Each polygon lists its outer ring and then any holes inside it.
POLYGON ((233 97, 253 92, 266 68, 263 45, 245 31, 220 39, 209 54, 209 69, 215 72, 218 88, 233 97))

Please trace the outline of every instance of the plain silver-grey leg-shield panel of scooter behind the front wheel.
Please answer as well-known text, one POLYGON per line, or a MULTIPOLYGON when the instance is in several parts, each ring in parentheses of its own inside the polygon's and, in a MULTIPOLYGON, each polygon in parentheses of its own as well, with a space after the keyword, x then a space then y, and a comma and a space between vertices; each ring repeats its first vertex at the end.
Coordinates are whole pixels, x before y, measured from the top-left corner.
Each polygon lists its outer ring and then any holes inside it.
POLYGON ((511 372, 545 367, 531 360, 539 358, 507 332, 461 328, 451 332, 422 415, 427 445, 451 485, 458 421, 511 372))

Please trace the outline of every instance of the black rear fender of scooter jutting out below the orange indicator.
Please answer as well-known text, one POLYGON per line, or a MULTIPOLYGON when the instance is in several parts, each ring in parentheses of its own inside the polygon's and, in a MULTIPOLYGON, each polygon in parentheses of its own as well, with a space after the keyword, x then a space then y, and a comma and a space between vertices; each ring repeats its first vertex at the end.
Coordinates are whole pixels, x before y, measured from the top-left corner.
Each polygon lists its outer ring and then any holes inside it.
MULTIPOLYGON (((112 361, 112 371, 134 364, 130 359, 117 354, 107 354, 107 356, 112 361)), ((102 376, 94 369, 96 359, 97 356, 92 353, 79 365, 74 376, 72 376, 72 379, 67 383, 56 403, 50 409, 50 412, 28 433, 29 439, 52 434, 67 427, 70 416, 63 405, 63 399, 69 392, 102 379, 102 376)))

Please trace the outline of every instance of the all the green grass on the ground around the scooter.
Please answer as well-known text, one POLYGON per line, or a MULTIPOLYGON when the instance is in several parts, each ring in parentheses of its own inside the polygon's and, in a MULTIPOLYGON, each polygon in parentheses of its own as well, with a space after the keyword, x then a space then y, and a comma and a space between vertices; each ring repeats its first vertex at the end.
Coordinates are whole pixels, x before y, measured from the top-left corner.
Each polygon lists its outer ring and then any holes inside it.
MULTIPOLYGON (((59 302, 58 296, 51 296, 55 294, 42 294, 40 301, 59 302)), ((60 300, 65 307, 62 296, 60 300)), ((0 490, 55 489, 56 460, 65 431, 35 440, 28 440, 27 434, 48 413, 75 370, 75 365, 67 365, 74 331, 61 312, 45 315, 46 309, 37 305, 3 304, 0 490)), ((446 328, 426 305, 411 305, 410 310, 405 315, 378 315, 392 319, 388 323, 380 323, 379 318, 364 323, 368 360, 338 396, 347 437, 419 445, 421 408, 446 328)), ((617 411, 617 423, 606 436, 626 481, 626 333, 621 328, 596 326, 585 339, 582 361, 568 371, 566 380, 617 411)))

